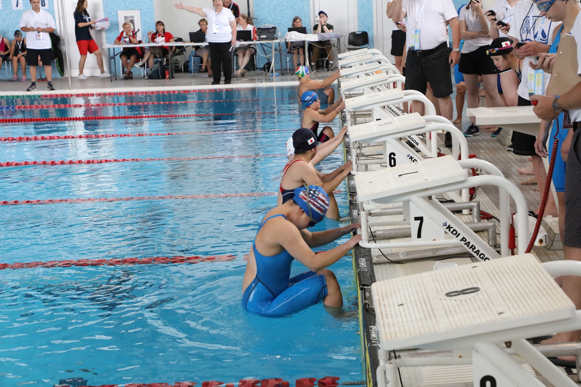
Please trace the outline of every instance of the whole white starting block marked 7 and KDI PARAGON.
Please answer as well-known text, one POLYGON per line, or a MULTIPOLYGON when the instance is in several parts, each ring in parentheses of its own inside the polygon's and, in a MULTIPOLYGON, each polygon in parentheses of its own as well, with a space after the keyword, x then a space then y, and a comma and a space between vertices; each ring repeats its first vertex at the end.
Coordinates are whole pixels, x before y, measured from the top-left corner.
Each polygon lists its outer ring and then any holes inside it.
MULTIPOLYGON (((508 249, 510 224, 510 197, 518 210, 518 231, 529 235, 526 200, 520 189, 506 180, 500 170, 478 159, 456 161, 452 156, 436 157, 417 163, 401 164, 393 168, 364 172, 354 177, 357 202, 360 209, 360 246, 367 249, 414 248, 419 246, 463 246, 480 260, 490 260, 510 254, 508 249), (488 174, 468 177, 468 168, 478 168, 488 174), (465 225, 432 196, 480 185, 495 185, 499 190, 501 255, 486 241, 465 225), (364 202, 403 202, 403 220, 368 221, 364 202), (410 225, 411 241, 370 242, 370 227, 410 225)), ((456 200, 456 199, 455 199, 456 200)), ((461 198, 460 198, 461 200, 461 198)), ((519 238, 519 251, 523 252, 529 238, 519 238)))

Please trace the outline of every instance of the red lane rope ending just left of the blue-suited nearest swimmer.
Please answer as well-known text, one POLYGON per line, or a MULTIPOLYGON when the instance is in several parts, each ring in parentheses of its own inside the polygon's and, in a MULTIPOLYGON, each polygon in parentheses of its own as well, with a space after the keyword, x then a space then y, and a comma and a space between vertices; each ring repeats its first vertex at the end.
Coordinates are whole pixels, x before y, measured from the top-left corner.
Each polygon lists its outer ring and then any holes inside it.
POLYGON ((0 263, 0 270, 19 269, 34 267, 71 267, 71 266, 119 266, 119 265, 146 265, 146 264, 168 264, 168 263, 200 263, 200 262, 225 262, 233 261, 233 255, 210 255, 200 256, 175 256, 175 257, 146 257, 146 258, 113 258, 113 259, 77 259, 48 262, 20 262, 20 263, 0 263))

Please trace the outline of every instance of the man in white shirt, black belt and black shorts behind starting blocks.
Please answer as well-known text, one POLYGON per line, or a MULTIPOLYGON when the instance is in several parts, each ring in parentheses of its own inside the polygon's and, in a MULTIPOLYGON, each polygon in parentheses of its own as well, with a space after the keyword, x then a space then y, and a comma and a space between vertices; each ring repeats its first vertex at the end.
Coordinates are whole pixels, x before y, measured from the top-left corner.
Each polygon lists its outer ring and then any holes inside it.
MULTIPOLYGON (((428 82, 440 105, 440 114, 453 119, 452 77, 450 66, 460 60, 460 27, 452 0, 394 0, 392 20, 406 19, 407 45, 406 90, 426 93, 428 82), (452 28, 452 46, 448 48, 447 26, 452 28)), ((424 114, 421 102, 411 103, 413 112, 424 114)))

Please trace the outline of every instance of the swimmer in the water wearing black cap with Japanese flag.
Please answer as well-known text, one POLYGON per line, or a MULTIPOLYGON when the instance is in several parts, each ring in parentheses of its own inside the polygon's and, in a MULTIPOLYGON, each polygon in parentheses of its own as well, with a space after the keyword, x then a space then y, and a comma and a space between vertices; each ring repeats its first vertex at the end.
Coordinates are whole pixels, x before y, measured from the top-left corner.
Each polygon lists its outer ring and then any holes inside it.
POLYGON ((293 133, 292 138, 295 157, 292 162, 286 164, 284 169, 277 205, 282 205, 292 199, 295 196, 296 188, 304 185, 317 185, 322 187, 329 195, 331 204, 327 211, 327 217, 339 219, 339 207, 335 196, 333 196, 333 190, 353 170, 352 163, 347 162, 335 171, 323 175, 311 164, 311 160, 317 155, 317 139, 313 132, 307 128, 300 128, 293 133))

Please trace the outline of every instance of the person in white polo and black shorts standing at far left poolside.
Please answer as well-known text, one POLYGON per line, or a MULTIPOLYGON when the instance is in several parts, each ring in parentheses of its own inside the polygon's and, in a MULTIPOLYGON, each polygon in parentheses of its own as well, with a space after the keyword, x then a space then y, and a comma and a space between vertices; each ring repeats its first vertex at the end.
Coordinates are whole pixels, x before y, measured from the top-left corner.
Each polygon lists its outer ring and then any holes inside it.
POLYGON ((36 90, 36 66, 38 57, 44 65, 48 89, 52 87, 52 67, 51 67, 51 37, 49 33, 55 32, 55 20, 51 14, 44 9, 40 9, 40 0, 30 0, 31 9, 24 11, 20 18, 20 30, 26 32, 26 63, 30 66, 30 77, 33 83, 26 91, 36 90))

